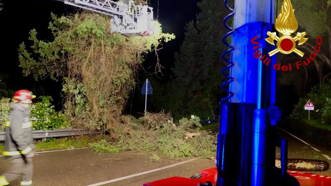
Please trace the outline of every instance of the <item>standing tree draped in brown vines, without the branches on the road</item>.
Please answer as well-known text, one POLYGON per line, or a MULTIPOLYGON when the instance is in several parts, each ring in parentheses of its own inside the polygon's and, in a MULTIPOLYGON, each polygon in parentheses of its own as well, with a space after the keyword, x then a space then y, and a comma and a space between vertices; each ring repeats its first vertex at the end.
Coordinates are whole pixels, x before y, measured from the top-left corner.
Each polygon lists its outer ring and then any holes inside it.
POLYGON ((51 16, 54 41, 38 40, 33 29, 29 40, 34 54, 20 45, 24 75, 63 81, 65 113, 72 127, 116 128, 144 54, 174 35, 162 33, 155 22, 153 36, 124 37, 111 32, 109 16, 90 11, 51 16))

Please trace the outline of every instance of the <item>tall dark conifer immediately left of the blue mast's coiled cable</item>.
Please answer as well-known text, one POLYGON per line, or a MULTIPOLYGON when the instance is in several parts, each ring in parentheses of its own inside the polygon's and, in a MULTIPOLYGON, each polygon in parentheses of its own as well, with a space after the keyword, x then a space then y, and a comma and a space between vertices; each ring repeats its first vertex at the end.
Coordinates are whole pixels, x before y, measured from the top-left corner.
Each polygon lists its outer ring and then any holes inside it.
POLYGON ((172 69, 175 74, 173 94, 177 96, 172 102, 177 106, 171 112, 180 116, 212 116, 218 107, 216 98, 220 84, 224 81, 220 70, 225 63, 220 54, 226 49, 222 37, 227 30, 219 20, 229 12, 220 11, 225 8, 218 0, 204 0, 198 7, 201 12, 196 23, 187 23, 185 39, 180 53, 175 54, 172 69))

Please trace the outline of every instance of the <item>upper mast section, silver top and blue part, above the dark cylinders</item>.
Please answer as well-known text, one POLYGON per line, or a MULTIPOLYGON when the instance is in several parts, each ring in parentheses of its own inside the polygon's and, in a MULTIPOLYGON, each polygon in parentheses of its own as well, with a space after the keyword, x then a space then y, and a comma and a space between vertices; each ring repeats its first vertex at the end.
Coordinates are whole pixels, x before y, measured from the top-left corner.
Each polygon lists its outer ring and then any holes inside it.
MULTIPOLYGON (((234 77, 234 81, 230 84, 234 96, 230 102, 257 104, 258 109, 261 109, 269 99, 269 95, 263 95, 263 76, 273 78, 272 82, 275 86, 275 70, 272 70, 273 74, 263 74, 264 69, 269 71, 270 67, 276 64, 276 57, 273 57, 271 63, 266 66, 262 63, 264 60, 256 59, 253 53, 260 50, 262 56, 265 54, 270 58, 267 53, 275 48, 264 40, 269 37, 266 32, 273 29, 274 0, 235 0, 234 11, 235 32, 231 36, 231 45, 234 46, 232 52, 234 67, 231 68, 231 76, 234 77), (260 47, 254 50, 253 47, 259 46, 251 42, 256 36, 258 38, 254 41, 258 42, 260 47), (265 100, 263 97, 268 98, 265 100)), ((274 104, 274 95, 272 97, 274 104)))

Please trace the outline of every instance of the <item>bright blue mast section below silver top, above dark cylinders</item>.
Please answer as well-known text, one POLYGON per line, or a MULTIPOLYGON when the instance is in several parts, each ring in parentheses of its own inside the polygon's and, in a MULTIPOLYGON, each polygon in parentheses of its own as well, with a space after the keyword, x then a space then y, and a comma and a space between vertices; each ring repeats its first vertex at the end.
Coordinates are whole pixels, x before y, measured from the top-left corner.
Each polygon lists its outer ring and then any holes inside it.
POLYGON ((271 23, 247 23, 237 28, 231 36, 231 45, 235 48, 232 61, 235 65, 230 72, 230 76, 234 77, 234 81, 230 83, 230 91, 234 93, 230 102, 252 103, 257 104, 258 108, 266 108, 270 104, 265 103, 266 100, 274 101, 274 89, 270 89, 275 85, 272 81, 276 80, 276 72, 272 68, 272 64, 276 63, 276 55, 271 57, 271 63, 266 66, 254 57, 253 53, 257 49, 254 50, 253 47, 257 45, 251 43, 251 39, 258 36, 255 40, 260 45, 258 49, 268 57, 267 53, 276 48, 264 40, 268 37, 266 32, 272 30, 272 27, 271 23), (268 90, 265 89, 266 86, 268 90), (271 98, 266 99, 265 96, 269 95, 271 98))

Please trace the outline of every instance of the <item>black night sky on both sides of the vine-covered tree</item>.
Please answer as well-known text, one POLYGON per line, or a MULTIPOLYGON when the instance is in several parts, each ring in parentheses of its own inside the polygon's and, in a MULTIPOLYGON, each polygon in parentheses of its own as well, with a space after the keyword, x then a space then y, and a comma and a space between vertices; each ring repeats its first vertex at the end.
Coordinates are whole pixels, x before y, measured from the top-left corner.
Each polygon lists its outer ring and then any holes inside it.
MULTIPOLYGON (((158 51, 160 64, 165 67, 162 71, 164 76, 159 75, 160 81, 166 82, 171 75, 171 67, 174 65, 173 56, 176 51, 179 51, 183 42, 185 24, 195 19, 199 12, 197 2, 199 0, 150 0, 150 5, 154 8, 154 19, 158 18, 163 32, 176 35, 175 40, 165 43, 162 46, 164 48, 158 51)), ((14 90, 35 88, 37 96, 38 94, 52 96, 53 104, 57 109, 61 109, 61 82, 47 79, 35 81, 32 77, 23 77, 22 69, 19 67, 18 47, 22 42, 29 44, 28 32, 33 28, 38 32, 38 39, 52 40, 53 35, 47 29, 51 21, 50 13, 53 12, 58 16, 67 15, 77 12, 77 8, 56 0, 2 0, 2 3, 0 73, 8 75, 7 86, 14 90)), ((155 64, 155 53, 151 53, 144 62, 144 69, 150 69, 150 72, 153 72, 155 64)), ((143 71, 140 72, 140 74, 143 73, 143 71)))

